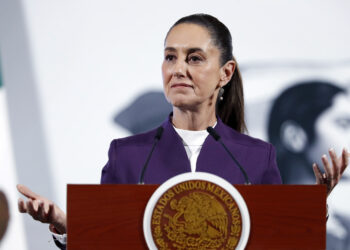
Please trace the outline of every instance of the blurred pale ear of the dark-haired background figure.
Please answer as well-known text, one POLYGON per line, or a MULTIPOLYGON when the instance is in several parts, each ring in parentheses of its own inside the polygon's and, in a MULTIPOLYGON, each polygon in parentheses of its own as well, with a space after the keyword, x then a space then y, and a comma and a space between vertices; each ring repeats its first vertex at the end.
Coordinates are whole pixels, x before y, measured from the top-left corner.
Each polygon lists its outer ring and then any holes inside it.
POLYGON ((284 147, 296 154, 303 152, 308 143, 305 130, 298 123, 291 120, 282 124, 280 138, 284 147))

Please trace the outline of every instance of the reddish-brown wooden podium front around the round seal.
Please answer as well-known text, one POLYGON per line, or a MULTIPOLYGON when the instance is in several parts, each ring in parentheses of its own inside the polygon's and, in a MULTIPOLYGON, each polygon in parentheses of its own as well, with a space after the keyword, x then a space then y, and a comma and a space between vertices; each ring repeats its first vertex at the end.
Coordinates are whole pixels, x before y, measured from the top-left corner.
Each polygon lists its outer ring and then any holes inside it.
MULTIPOLYGON (((158 185, 68 185, 70 249, 147 249, 143 213, 158 185)), ((326 187, 235 185, 250 214, 246 249, 326 249, 326 187)))

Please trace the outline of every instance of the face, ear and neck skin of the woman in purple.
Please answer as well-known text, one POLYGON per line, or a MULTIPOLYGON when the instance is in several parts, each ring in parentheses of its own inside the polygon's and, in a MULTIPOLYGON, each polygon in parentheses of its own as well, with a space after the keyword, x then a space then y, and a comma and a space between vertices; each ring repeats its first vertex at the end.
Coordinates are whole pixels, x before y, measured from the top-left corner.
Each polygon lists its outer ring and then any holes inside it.
POLYGON ((234 61, 220 65, 220 50, 205 28, 175 26, 165 41, 162 64, 164 94, 173 106, 173 124, 186 130, 213 126, 219 89, 230 81, 234 69, 234 61))

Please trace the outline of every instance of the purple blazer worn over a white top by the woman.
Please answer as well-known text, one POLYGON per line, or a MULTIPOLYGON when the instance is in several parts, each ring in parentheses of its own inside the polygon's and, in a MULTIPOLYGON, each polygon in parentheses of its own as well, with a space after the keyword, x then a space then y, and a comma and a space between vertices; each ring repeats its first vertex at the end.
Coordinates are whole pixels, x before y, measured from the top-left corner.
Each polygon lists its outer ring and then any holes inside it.
MULTIPOLYGON (((162 124, 163 135, 149 161, 144 182, 161 184, 169 178, 191 171, 180 136, 171 124, 162 124)), ((218 119, 215 130, 238 162, 246 170, 252 184, 281 184, 274 147, 238 133, 218 119)), ((156 129, 111 142, 108 162, 102 170, 101 183, 136 184, 152 148, 156 129)), ((243 184, 244 176, 224 148, 210 135, 204 141, 197 159, 196 171, 218 175, 232 184, 243 184)))

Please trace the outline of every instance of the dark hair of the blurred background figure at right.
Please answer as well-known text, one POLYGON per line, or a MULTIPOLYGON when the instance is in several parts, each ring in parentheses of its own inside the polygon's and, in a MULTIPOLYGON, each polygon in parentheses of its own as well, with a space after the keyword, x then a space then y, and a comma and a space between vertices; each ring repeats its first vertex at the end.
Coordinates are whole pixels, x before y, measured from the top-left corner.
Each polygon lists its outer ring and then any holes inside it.
MULTIPOLYGON (((307 134, 306 146, 315 142, 315 123, 317 118, 333 104, 334 97, 346 90, 326 81, 300 82, 287 88, 274 101, 268 124, 269 141, 276 147, 277 163, 285 183, 294 183, 293 178, 302 174, 313 176, 305 156, 305 150, 292 152, 284 145, 281 138, 281 127, 284 122, 292 121, 303 128, 307 134), (289 166, 294 164, 293 166, 289 166), (305 166, 307 165, 307 169, 305 166)), ((299 177, 296 177, 298 176, 299 177)), ((306 176, 304 176, 306 177, 306 176)))

